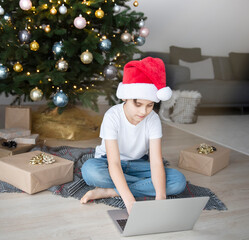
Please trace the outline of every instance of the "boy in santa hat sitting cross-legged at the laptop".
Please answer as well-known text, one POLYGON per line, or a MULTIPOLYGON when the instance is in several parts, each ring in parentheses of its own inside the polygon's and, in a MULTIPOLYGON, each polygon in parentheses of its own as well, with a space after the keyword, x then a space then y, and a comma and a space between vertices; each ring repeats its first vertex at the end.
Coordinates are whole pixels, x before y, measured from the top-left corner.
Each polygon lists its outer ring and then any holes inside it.
POLYGON ((153 111, 155 102, 166 101, 171 95, 161 59, 147 57, 125 65, 123 82, 117 89, 117 97, 124 103, 105 113, 102 143, 96 147, 95 158, 82 166, 83 179, 96 188, 87 192, 81 203, 121 196, 130 213, 135 197, 166 199, 166 195, 185 189, 184 175, 163 165, 162 127, 153 111))

